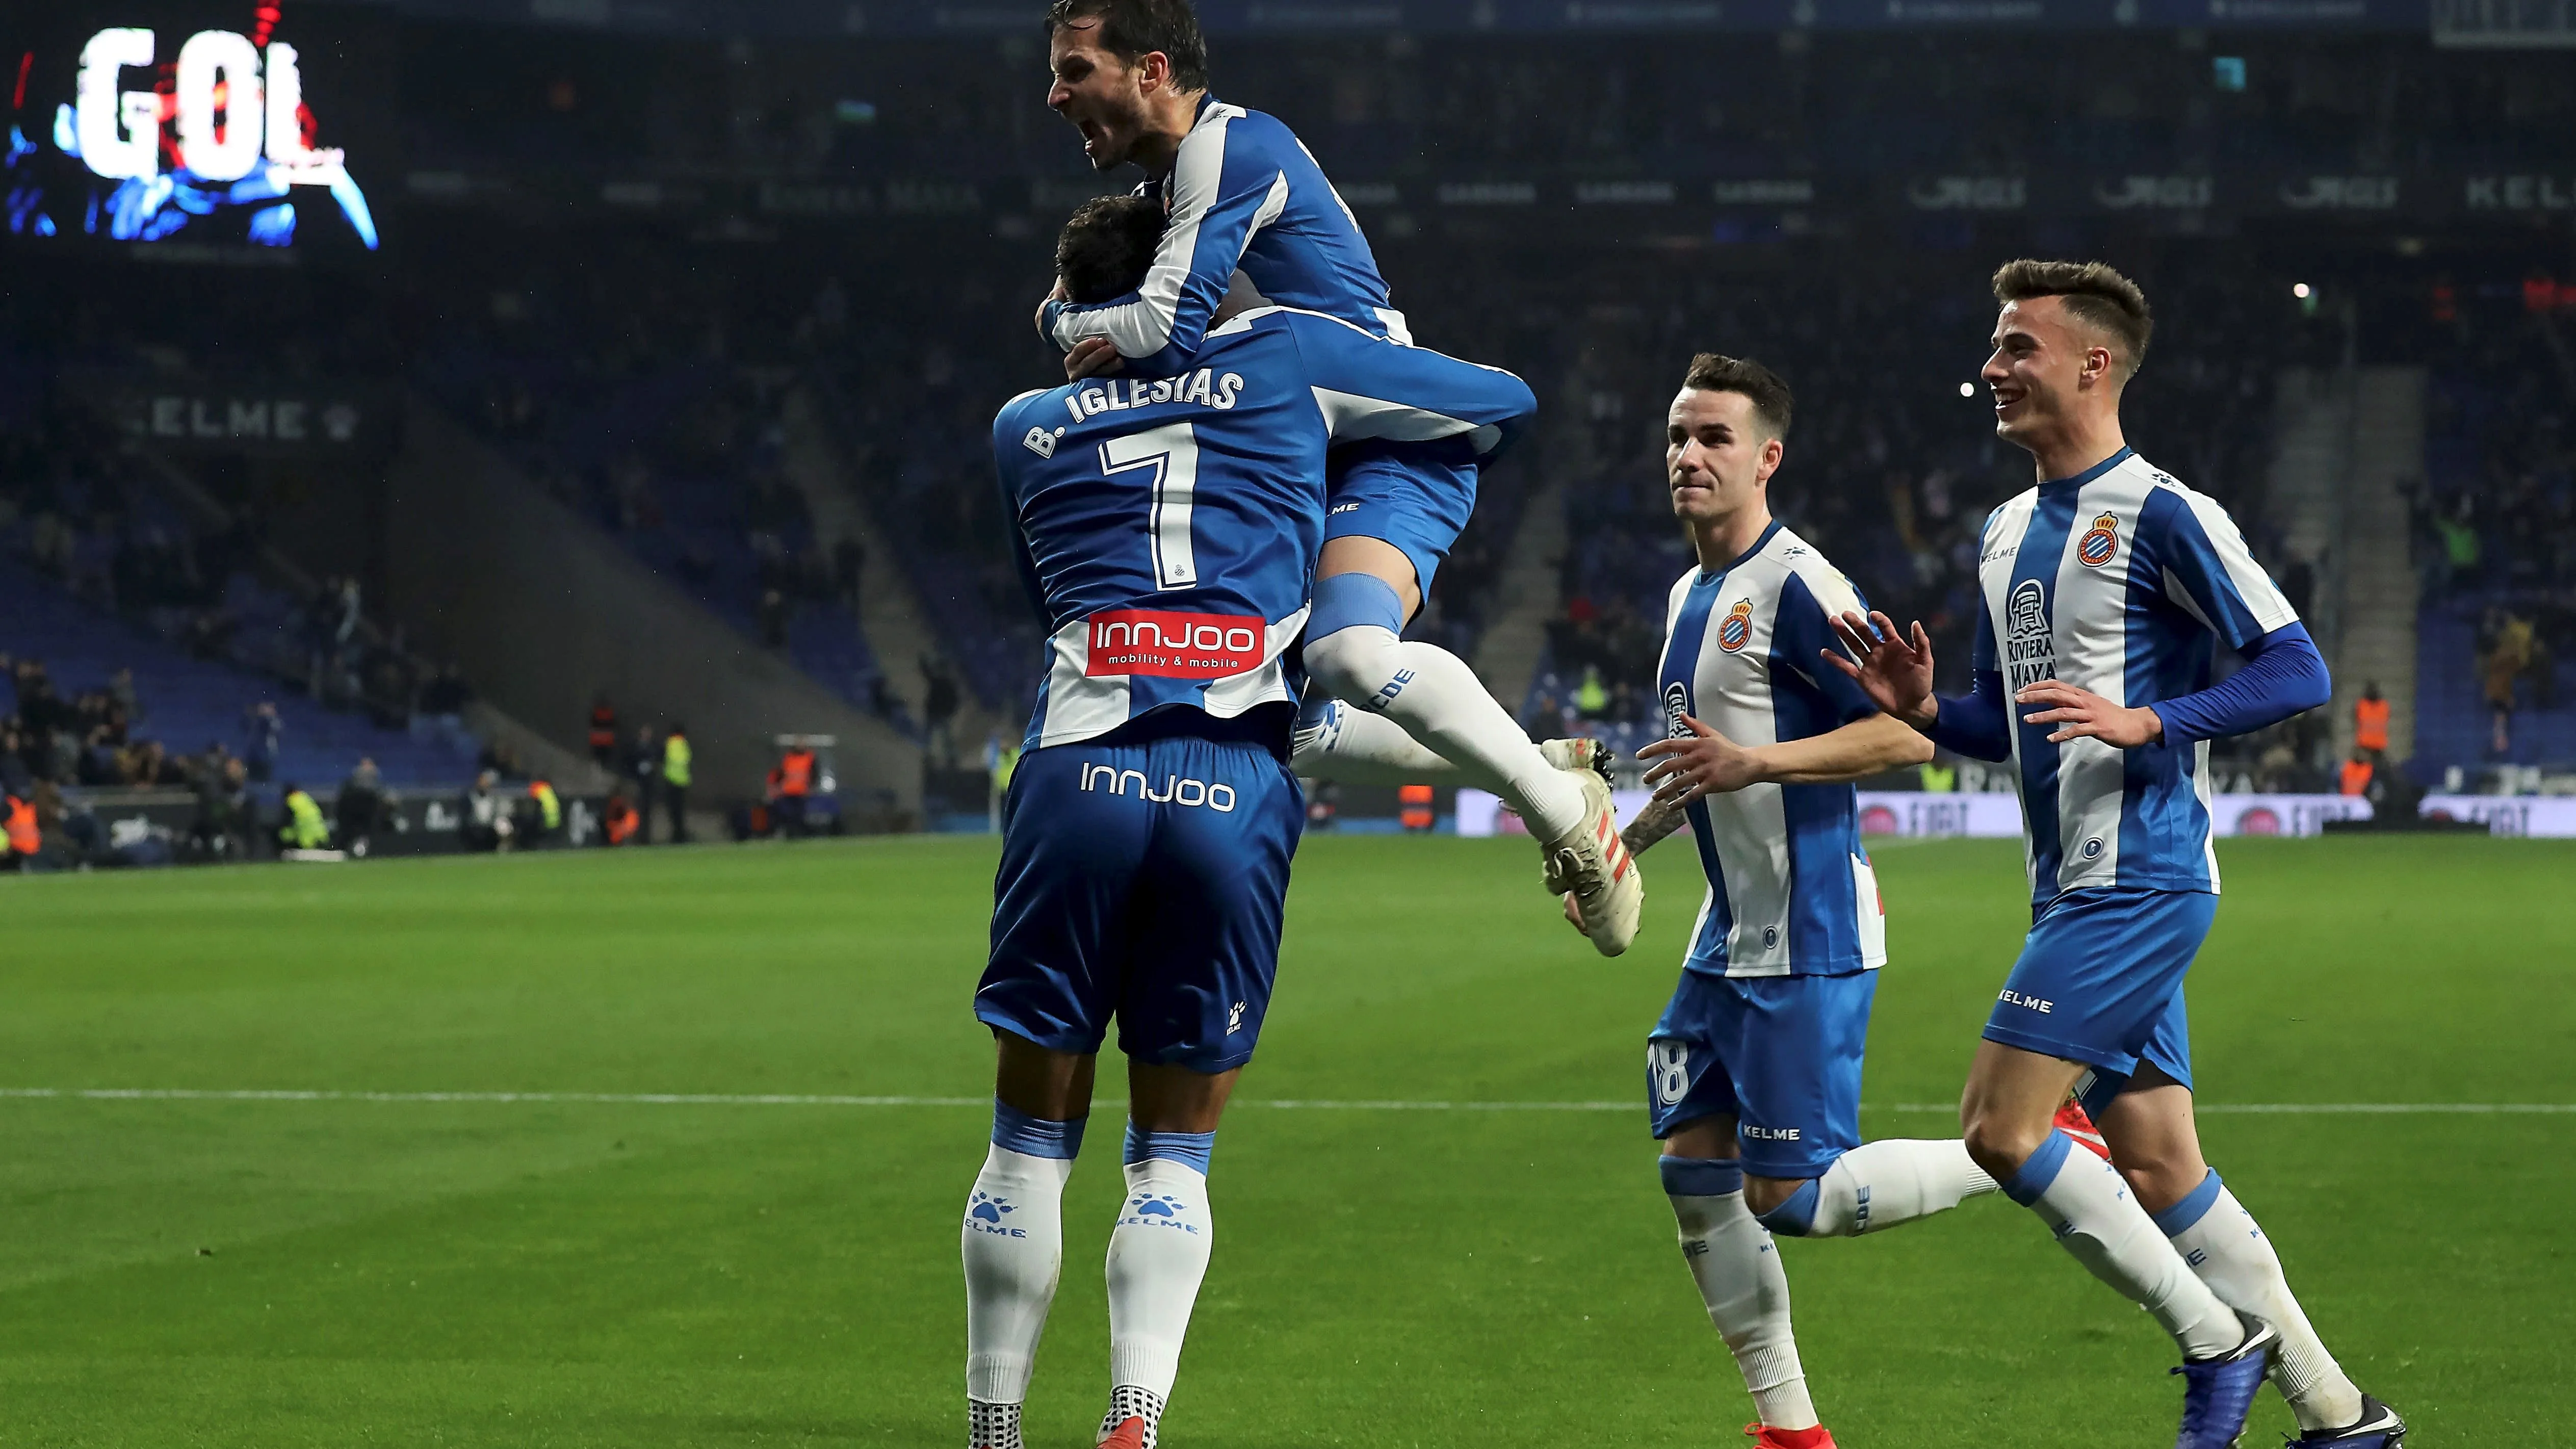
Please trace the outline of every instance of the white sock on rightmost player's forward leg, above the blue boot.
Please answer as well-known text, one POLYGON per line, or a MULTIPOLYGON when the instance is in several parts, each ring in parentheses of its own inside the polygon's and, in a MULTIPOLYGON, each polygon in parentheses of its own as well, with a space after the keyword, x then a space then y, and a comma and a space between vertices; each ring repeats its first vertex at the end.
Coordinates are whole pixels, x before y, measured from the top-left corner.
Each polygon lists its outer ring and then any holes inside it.
POLYGON ((2084 1269, 2156 1315, 2182 1343, 2184 1359, 2228 1354, 2246 1338, 2236 1310, 2192 1276, 2182 1253, 2156 1232, 2117 1168, 2050 1132, 2004 1186, 2012 1201, 2040 1214, 2058 1245, 2084 1269))

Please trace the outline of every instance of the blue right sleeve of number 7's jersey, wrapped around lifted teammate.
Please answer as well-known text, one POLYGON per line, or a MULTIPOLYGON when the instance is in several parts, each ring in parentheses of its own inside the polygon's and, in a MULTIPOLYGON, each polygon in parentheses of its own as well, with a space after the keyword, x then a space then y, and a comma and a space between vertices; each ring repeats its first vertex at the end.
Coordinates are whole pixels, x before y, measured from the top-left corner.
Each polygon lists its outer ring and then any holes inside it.
POLYGON ((1538 415, 1530 384, 1494 366, 1373 338, 1314 312, 1255 312, 1229 322, 1249 325, 1278 325, 1296 340, 1334 443, 1466 436, 1476 459, 1492 462, 1538 415))

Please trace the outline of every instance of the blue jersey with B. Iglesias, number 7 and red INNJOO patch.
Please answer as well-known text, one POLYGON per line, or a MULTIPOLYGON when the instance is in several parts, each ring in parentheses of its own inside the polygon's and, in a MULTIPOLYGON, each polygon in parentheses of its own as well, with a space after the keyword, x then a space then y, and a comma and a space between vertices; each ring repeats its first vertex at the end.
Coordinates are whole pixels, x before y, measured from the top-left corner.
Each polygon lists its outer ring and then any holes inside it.
POLYGON ((1494 456, 1535 410, 1502 369, 1285 307, 1216 327, 1170 376, 1012 397, 992 454, 1048 627, 1028 748, 1167 706, 1293 706, 1280 652, 1324 547, 1324 451, 1468 436, 1494 456))

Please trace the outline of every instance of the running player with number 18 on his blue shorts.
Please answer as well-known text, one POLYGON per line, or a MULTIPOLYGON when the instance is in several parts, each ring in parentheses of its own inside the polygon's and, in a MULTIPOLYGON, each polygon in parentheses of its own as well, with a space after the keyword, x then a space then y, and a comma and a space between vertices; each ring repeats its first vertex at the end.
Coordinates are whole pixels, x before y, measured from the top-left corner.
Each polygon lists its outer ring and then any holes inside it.
MULTIPOLYGON (((1860 1142, 1860 1055, 1886 962, 1852 781, 1932 745, 1826 668, 1860 596, 1772 521, 1790 392, 1703 353, 1672 400, 1664 477, 1700 567, 1664 614, 1667 737, 1628 848, 1690 825, 1708 900, 1646 1039, 1646 1114, 1682 1263, 1744 1369, 1762 1449, 1832 1449, 1790 1336, 1772 1232, 1852 1238, 1994 1191, 1960 1142, 1860 1142)), ((1837 655, 1839 657, 1839 655, 1837 655)), ((1571 902, 1569 902, 1571 910, 1571 902)))

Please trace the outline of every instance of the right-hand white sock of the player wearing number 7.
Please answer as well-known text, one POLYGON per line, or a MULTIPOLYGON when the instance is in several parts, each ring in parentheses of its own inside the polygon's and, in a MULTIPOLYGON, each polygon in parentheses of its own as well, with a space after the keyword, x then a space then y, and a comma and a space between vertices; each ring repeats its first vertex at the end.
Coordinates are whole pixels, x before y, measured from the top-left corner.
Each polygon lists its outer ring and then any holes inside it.
MULTIPOLYGON (((1110 1232, 1110 1413, 1144 1418, 1151 1449, 1162 1403, 1180 1374, 1180 1341, 1208 1276, 1208 1176, 1188 1163, 1128 1163, 1128 1194, 1110 1232), (1141 1392, 1128 1392, 1141 1390, 1141 1392)), ((1103 1423, 1103 1434, 1115 1428, 1103 1423)))

